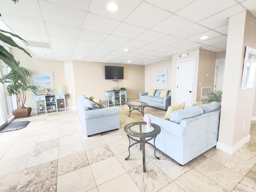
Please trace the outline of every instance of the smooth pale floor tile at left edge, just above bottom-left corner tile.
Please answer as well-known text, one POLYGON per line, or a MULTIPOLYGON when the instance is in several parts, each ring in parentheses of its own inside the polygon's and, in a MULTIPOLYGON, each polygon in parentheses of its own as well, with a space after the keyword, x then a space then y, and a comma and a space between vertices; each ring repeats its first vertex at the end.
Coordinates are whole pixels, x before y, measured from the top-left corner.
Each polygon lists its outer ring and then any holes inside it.
POLYGON ((24 170, 29 158, 30 154, 5 161, 0 161, 0 176, 24 170))

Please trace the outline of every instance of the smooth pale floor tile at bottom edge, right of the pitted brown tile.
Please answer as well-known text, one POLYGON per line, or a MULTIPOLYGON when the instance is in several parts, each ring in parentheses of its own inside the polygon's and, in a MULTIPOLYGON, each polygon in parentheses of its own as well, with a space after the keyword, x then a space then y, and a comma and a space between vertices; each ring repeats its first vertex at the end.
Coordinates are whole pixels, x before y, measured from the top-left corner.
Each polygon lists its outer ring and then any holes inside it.
POLYGON ((95 187, 90 166, 58 176, 57 192, 85 192, 95 187))

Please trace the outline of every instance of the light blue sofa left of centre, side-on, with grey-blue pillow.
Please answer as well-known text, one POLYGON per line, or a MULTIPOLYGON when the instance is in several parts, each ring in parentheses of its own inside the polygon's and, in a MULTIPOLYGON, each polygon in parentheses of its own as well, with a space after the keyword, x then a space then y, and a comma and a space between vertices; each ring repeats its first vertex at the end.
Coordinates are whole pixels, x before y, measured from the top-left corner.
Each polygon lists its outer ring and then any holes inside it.
POLYGON ((78 97, 77 104, 78 115, 88 137, 120 127, 118 107, 100 109, 84 95, 78 97))

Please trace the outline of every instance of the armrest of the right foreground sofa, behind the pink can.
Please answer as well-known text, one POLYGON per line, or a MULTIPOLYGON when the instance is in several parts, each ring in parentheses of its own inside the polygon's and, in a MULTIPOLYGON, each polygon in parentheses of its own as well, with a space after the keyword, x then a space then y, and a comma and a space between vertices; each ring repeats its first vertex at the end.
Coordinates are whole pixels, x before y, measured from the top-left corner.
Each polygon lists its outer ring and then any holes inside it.
POLYGON ((166 132, 182 138, 186 136, 186 128, 181 126, 180 124, 165 120, 164 118, 160 118, 151 114, 145 114, 143 116, 143 120, 145 122, 147 122, 147 116, 151 117, 151 123, 160 126, 160 128, 164 129, 166 132))

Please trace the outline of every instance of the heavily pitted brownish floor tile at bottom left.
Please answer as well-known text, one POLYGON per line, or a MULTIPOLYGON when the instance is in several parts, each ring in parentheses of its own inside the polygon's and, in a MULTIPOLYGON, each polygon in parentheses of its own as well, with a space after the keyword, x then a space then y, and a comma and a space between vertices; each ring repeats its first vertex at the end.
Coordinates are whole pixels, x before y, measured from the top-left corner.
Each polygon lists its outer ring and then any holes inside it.
MULTIPOLYGON (((25 191, 36 184, 47 181, 52 178, 57 178, 58 160, 49 161, 38 164, 36 166, 28 167, 24 170, 17 190, 25 191)), ((48 186, 52 187, 50 184, 48 186)))

